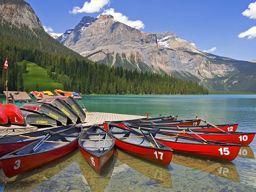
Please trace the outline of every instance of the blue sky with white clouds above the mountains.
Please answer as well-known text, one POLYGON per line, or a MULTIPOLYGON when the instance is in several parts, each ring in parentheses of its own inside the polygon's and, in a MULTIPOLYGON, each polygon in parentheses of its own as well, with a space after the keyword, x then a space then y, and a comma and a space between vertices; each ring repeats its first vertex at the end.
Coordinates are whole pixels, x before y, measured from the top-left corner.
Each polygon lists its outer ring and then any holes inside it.
POLYGON ((172 31, 202 51, 256 59, 255 0, 26 0, 48 32, 73 29, 83 16, 110 14, 143 32, 172 31))

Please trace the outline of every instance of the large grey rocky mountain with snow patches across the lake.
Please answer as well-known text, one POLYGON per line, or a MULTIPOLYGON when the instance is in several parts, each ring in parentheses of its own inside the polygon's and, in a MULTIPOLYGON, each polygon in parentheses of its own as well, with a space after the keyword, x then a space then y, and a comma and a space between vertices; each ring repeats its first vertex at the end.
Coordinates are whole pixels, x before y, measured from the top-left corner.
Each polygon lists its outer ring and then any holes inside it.
POLYGON ((83 17, 60 42, 97 63, 172 74, 214 90, 256 91, 255 80, 254 84, 237 86, 251 78, 246 71, 255 70, 255 63, 204 53, 171 31, 144 33, 111 15, 83 17))

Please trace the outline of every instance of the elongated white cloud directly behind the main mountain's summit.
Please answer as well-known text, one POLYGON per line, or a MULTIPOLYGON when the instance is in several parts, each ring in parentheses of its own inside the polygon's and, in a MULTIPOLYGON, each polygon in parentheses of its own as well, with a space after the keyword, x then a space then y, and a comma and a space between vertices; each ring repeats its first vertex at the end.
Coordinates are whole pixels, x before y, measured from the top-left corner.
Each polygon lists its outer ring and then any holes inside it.
MULTIPOLYGON (((144 24, 141 20, 129 20, 129 18, 122 13, 115 12, 113 8, 110 8, 108 10, 104 10, 104 12, 101 15, 112 15, 115 20, 124 23, 125 25, 128 25, 130 27, 134 27, 136 29, 144 29, 144 24)), ((100 15, 97 16, 99 18, 100 15)))

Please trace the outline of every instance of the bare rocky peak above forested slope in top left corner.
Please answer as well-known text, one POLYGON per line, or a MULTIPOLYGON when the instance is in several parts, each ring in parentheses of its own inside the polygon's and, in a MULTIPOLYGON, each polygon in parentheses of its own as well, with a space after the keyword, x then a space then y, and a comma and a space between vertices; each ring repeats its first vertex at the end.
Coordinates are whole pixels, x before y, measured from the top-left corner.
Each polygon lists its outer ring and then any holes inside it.
POLYGON ((16 26, 26 25, 30 29, 43 29, 41 21, 28 3, 19 0, 12 1, 0 1, 0 20, 5 20, 16 26), (12 1, 16 2, 13 3, 12 1))

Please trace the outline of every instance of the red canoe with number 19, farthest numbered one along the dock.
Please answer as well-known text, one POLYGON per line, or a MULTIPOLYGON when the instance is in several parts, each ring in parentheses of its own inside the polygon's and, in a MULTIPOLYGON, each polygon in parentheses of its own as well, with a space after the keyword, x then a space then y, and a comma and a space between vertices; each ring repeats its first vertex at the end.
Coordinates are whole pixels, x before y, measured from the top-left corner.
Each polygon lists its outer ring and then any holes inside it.
MULTIPOLYGON (((186 120, 186 121, 169 121, 169 122, 163 122, 163 121, 155 121, 155 122, 139 122, 139 123, 132 123, 132 124, 136 124, 138 126, 144 126, 144 125, 166 125, 166 126, 181 126, 181 125, 199 125, 201 122, 201 120, 186 120)), ((104 128, 106 130, 108 130, 108 123, 112 123, 112 122, 103 122, 104 128)), ((122 127, 123 122, 116 122, 113 123, 116 124, 120 127, 122 127)))

